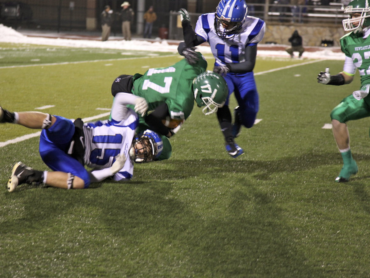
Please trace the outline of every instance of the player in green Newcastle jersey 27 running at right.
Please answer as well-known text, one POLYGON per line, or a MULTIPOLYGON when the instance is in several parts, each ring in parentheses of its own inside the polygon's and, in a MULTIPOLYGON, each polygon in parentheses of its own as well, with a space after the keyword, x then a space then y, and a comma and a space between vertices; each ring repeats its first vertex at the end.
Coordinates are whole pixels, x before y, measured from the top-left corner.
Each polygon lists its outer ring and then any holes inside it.
POLYGON ((342 52, 346 54, 343 71, 330 75, 329 68, 320 72, 318 82, 327 85, 344 85, 353 80, 356 69, 361 76, 360 89, 347 96, 330 114, 333 135, 343 158, 343 168, 336 182, 347 182, 357 173, 356 161, 352 158, 349 132, 346 122, 370 116, 370 8, 369 0, 353 0, 344 9, 349 18, 343 20, 345 31, 351 31, 340 39, 342 52))

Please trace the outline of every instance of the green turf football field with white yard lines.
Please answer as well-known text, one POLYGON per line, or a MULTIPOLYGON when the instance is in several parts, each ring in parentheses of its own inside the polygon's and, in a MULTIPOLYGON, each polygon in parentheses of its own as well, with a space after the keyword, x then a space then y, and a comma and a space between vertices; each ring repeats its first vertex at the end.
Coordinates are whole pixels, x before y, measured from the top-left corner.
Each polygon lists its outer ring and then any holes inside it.
MULTIPOLYGON (((92 117, 109 112, 97 108, 110 108, 118 75, 180 59, 122 52, 1 43, 0 104, 92 117)), ((318 84, 328 66, 336 74, 343 62, 258 59, 261 121, 236 139, 237 159, 216 117, 197 107, 171 139, 171 159, 135 165, 128 182, 9 193, 15 162, 47 167, 37 137, 0 147, 0 277, 369 277, 369 124, 349 122, 359 173, 335 183, 342 160, 322 127, 359 76, 318 84)), ((0 142, 36 131, 1 125, 0 142)))

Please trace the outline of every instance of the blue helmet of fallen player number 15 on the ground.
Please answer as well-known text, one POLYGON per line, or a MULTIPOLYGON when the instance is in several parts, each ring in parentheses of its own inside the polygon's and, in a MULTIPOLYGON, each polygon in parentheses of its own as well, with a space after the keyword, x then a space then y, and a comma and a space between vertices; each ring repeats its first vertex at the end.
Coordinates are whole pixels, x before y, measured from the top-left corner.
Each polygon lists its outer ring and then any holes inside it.
POLYGON ((130 158, 137 163, 157 159, 163 149, 163 142, 159 134, 149 129, 134 138, 132 145, 130 158))

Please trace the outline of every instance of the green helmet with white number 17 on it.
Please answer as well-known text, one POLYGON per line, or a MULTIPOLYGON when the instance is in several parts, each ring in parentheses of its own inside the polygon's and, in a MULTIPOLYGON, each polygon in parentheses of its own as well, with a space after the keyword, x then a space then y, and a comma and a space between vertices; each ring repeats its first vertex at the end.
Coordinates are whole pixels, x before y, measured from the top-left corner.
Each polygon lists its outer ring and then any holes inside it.
POLYGON ((198 107, 205 106, 202 110, 204 115, 216 112, 218 107, 225 104, 228 96, 228 85, 225 79, 209 70, 194 78, 192 89, 198 107))

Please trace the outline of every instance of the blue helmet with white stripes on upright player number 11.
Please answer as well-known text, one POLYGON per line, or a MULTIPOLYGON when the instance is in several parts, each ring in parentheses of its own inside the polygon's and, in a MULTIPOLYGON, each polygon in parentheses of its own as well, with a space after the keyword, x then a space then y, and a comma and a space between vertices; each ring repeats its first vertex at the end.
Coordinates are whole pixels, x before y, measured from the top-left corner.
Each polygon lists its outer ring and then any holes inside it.
POLYGON ((244 0, 221 0, 215 13, 215 30, 221 39, 232 39, 242 31, 242 25, 248 15, 248 6, 244 0))

